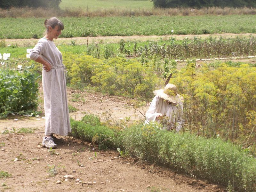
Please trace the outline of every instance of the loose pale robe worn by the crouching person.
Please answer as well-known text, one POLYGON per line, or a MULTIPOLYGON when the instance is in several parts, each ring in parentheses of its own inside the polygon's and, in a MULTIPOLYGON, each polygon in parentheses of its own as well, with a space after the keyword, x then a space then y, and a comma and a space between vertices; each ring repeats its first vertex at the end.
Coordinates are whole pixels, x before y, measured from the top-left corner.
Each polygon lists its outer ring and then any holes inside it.
MULTIPOLYGON (((167 104, 162 98, 159 96, 155 96, 154 99, 151 101, 150 107, 146 113, 146 121, 145 124, 148 122, 156 121, 156 117, 158 115, 166 115, 168 117, 168 123, 170 127, 168 129, 175 128, 176 132, 179 132, 182 128, 183 121, 183 104, 167 104)), ((157 120, 159 122, 159 120, 157 120)))

